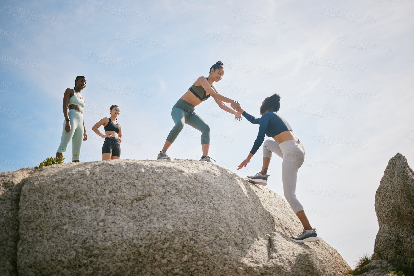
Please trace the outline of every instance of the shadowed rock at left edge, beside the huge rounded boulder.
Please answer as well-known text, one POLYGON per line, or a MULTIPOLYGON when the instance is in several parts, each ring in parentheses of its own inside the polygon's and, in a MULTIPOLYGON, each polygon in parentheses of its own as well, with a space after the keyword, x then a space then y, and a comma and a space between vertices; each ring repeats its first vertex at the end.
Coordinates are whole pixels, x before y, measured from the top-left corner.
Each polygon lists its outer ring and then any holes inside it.
POLYGON ((0 173, 0 275, 2 276, 17 276, 17 242, 19 241, 17 214, 20 190, 24 178, 33 171, 33 168, 24 168, 0 173))

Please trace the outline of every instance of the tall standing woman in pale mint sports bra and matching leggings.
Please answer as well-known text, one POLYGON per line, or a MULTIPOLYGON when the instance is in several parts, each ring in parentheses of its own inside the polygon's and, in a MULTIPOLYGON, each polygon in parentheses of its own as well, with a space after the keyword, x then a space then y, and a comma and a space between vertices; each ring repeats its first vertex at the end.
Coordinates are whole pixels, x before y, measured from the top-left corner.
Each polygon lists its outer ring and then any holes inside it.
POLYGON ((60 146, 56 152, 56 158, 63 156, 72 139, 72 162, 79 162, 82 139, 83 141, 87 139, 83 120, 85 98, 80 94, 80 91, 85 86, 86 78, 84 76, 77 76, 75 79, 75 88, 67 88, 65 94, 63 94, 63 116, 65 117, 65 121, 63 122, 62 138, 60 139, 60 146))

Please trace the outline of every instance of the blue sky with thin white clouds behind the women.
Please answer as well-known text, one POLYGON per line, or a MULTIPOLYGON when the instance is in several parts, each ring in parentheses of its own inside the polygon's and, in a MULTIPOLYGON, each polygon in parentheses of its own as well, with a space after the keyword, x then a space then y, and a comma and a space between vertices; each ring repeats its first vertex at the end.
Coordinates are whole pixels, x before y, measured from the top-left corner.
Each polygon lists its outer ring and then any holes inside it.
MULTIPOLYGON (((91 127, 113 104, 121 158, 155 159, 173 104, 222 60, 214 85, 252 115, 280 94, 279 113, 306 149, 296 190, 318 235, 351 266, 373 252, 374 196, 388 160, 400 152, 414 162, 412 2, 2 1, 1 9, 0 171, 55 156, 63 93, 78 75, 87 78, 81 161, 101 160, 103 139, 91 127)), ((212 99, 196 112, 217 164, 242 177, 260 171, 261 149, 235 170, 258 126, 212 99)), ((200 158, 200 132, 186 126, 168 154, 200 158)), ((283 197, 281 165, 274 156, 267 187, 283 197)))

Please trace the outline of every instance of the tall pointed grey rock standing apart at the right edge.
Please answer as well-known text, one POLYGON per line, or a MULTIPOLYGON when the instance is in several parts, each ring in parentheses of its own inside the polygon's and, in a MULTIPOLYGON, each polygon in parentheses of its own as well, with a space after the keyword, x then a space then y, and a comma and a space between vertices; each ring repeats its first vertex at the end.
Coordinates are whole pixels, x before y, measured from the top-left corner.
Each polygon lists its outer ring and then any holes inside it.
POLYGON ((414 268, 414 171, 400 153, 388 162, 375 194, 375 210, 380 229, 374 259, 391 264, 408 260, 403 265, 414 268))

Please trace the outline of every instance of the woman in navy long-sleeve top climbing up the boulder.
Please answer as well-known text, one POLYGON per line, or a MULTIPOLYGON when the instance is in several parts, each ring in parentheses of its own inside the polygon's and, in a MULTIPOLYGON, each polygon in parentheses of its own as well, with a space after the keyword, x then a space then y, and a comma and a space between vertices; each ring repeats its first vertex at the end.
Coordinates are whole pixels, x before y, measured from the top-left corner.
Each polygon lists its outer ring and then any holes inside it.
POLYGON ((267 178, 269 177, 267 168, 270 164, 270 158, 272 158, 272 152, 277 154, 280 158, 283 158, 282 182, 284 196, 304 228, 302 233, 298 236, 292 236, 291 239, 295 242, 313 242, 319 240, 318 235, 316 234, 316 229, 310 226, 304 208, 296 198, 296 178, 298 169, 302 166, 302 163, 305 160, 305 148, 294 134, 289 123, 277 113, 280 108, 280 96, 274 94, 265 98, 262 102, 262 106, 260 106, 261 118, 255 118, 252 115, 249 115, 246 111, 241 109, 238 102, 237 104, 238 110, 242 113, 244 118, 253 124, 260 125, 259 133, 253 144, 253 148, 246 160, 238 166, 238 170, 243 168, 243 166, 246 167, 247 163, 250 162, 250 158, 252 158, 262 145, 265 139, 265 134, 268 137, 272 137, 273 139, 267 139, 263 144, 262 171, 254 176, 248 176, 247 180, 254 184, 266 186, 267 178))

